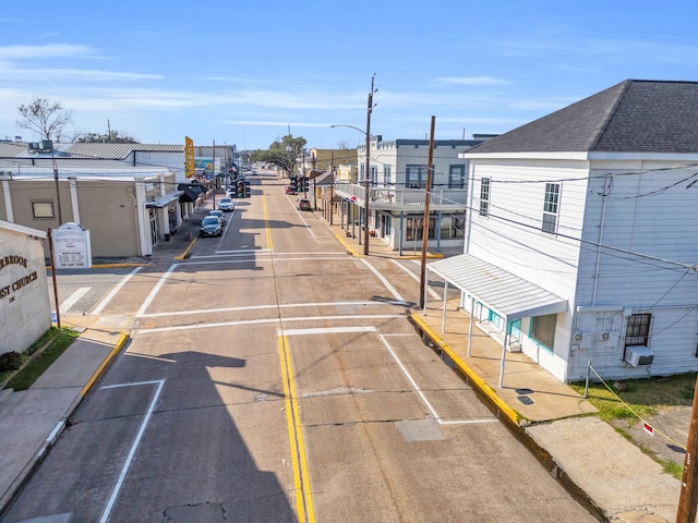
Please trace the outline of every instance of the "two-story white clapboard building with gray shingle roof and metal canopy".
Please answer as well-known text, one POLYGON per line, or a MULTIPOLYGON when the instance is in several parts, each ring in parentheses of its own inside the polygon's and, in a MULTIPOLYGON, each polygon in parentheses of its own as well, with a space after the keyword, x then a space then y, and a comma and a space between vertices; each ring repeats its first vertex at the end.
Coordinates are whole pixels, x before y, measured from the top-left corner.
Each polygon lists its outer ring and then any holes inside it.
MULTIPOLYGON (((698 369, 698 83, 625 81, 466 153, 465 254, 429 265, 557 379, 698 369)), ((472 336, 472 335, 470 335, 472 336)))

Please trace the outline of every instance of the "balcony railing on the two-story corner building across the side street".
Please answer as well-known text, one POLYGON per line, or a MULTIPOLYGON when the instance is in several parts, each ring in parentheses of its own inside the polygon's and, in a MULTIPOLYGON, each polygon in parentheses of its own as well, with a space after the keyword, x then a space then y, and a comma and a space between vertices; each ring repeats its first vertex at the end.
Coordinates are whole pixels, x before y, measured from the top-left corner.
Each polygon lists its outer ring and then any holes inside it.
MULTIPOLYGON (((344 198, 356 199, 363 205, 365 185, 338 182, 335 183, 335 194, 344 198)), ((465 188, 432 188, 430 196, 429 205, 430 207, 435 206, 434 210, 464 208, 467 191, 465 188)), ((424 207, 426 191, 423 188, 369 187, 369 198, 372 205, 378 204, 381 208, 424 207)))

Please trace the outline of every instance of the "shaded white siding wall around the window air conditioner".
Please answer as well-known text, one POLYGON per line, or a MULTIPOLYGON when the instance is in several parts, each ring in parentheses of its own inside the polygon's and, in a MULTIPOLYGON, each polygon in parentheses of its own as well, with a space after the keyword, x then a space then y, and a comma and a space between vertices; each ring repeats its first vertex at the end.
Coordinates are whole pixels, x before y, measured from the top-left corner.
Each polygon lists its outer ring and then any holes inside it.
POLYGON ((570 377, 583 375, 587 361, 607 378, 696 370, 698 275, 642 256, 698 262, 698 243, 691 240, 698 223, 698 184, 690 185, 696 170, 657 162, 602 167, 592 174, 582 235, 640 255, 582 245, 577 305, 591 312, 576 319, 575 330, 588 336, 581 344, 571 342, 570 377), (649 368, 623 361, 623 309, 652 315, 649 348, 655 356, 649 368), (600 337, 604 331, 607 340, 600 337))

